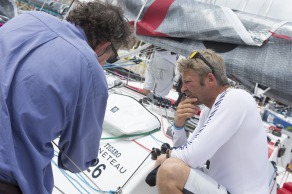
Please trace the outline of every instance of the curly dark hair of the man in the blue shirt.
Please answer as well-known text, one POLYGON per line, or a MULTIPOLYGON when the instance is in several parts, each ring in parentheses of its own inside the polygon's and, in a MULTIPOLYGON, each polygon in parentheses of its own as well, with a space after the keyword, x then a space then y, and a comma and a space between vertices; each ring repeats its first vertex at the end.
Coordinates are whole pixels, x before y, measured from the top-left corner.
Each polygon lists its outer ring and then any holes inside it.
POLYGON ((118 48, 128 48, 131 42, 132 29, 129 22, 122 8, 112 3, 100 0, 78 2, 66 20, 84 30, 92 49, 107 41, 118 48))

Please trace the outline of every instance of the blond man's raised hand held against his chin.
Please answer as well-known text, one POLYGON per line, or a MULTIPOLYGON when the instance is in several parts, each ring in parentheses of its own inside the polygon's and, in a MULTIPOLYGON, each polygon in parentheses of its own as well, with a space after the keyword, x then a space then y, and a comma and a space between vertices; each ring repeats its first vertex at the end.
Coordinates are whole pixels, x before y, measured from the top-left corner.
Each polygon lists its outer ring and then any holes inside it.
POLYGON ((177 127, 184 126, 188 118, 194 117, 198 113, 200 107, 195 105, 198 101, 197 98, 186 98, 179 103, 176 108, 176 115, 174 118, 174 124, 177 127))

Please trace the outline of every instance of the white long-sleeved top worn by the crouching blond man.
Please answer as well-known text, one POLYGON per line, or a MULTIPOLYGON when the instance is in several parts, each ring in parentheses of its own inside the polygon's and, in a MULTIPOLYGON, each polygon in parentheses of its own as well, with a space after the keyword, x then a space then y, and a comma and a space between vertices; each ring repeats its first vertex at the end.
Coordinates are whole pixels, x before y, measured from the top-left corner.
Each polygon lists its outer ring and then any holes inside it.
POLYGON ((268 194, 272 165, 257 104, 241 89, 229 89, 203 109, 188 143, 184 130, 172 129, 177 157, 191 168, 210 159, 210 176, 232 194, 268 194))

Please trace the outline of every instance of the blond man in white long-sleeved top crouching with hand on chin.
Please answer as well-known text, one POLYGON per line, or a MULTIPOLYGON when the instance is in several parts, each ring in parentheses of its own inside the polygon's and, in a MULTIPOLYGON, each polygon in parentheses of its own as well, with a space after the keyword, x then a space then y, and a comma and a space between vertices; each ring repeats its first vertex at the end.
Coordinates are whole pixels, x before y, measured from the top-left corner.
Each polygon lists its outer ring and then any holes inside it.
POLYGON ((178 63, 181 91, 172 126, 174 148, 157 163, 161 194, 268 194, 274 169, 257 104, 228 85, 224 60, 212 50, 178 63), (184 125, 204 104, 198 126, 187 138, 184 125), (204 167, 210 161, 209 169, 204 167))

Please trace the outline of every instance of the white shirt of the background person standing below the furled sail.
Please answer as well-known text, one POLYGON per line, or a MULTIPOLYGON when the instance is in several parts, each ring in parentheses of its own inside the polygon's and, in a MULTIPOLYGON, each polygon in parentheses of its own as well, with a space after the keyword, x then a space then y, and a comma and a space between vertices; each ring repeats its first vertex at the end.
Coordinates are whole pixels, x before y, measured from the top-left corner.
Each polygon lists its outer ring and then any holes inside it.
POLYGON ((176 55, 170 51, 155 51, 148 66, 143 88, 154 90, 154 93, 165 97, 173 87, 175 76, 176 55))

